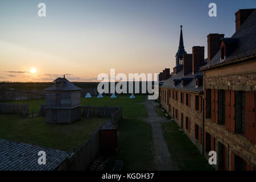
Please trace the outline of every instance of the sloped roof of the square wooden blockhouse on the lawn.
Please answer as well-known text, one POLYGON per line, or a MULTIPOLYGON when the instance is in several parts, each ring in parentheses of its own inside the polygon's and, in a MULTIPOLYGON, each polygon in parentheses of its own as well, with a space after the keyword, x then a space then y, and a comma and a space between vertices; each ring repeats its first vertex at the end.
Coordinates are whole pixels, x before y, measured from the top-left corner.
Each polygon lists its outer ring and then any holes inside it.
POLYGON ((44 90, 50 91, 50 90, 65 90, 65 91, 71 91, 71 90, 81 90, 81 88, 77 87, 76 85, 72 84, 72 82, 68 81, 66 78, 57 78, 54 80, 55 82, 60 82, 60 87, 58 87, 56 84, 52 85, 44 90))

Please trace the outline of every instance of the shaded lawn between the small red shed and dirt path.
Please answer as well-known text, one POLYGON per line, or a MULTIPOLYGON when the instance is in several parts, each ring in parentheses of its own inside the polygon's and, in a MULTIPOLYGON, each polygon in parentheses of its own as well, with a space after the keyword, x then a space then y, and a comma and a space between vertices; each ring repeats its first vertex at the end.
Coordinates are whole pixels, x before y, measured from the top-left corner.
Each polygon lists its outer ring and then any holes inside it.
POLYGON ((154 170, 152 131, 141 119, 122 119, 118 125, 118 154, 110 156, 106 170, 112 170, 115 160, 123 161, 123 171, 154 170))

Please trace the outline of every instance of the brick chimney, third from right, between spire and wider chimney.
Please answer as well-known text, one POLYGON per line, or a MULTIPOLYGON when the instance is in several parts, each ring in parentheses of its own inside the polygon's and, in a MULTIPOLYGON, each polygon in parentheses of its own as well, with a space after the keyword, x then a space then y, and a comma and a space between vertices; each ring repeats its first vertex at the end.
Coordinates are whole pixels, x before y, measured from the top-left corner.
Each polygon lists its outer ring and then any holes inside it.
POLYGON ((204 47, 192 47, 192 74, 194 75, 199 67, 204 64, 204 47))

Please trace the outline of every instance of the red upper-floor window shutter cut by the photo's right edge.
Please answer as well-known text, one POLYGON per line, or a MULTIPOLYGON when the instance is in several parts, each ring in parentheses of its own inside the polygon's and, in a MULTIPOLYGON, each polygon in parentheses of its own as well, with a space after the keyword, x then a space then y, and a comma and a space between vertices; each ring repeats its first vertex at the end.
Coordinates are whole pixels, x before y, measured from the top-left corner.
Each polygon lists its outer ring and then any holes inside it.
POLYGON ((256 144, 254 91, 246 92, 246 137, 250 142, 256 144))

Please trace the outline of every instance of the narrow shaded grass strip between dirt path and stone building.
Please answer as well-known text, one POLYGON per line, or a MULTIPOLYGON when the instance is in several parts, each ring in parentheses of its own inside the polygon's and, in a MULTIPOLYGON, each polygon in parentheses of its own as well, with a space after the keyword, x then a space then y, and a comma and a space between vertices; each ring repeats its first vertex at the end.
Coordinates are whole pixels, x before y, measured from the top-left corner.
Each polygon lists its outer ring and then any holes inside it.
POLYGON ((179 131, 176 122, 163 123, 163 135, 166 139, 172 159, 180 170, 185 171, 212 171, 207 159, 200 154, 196 146, 185 135, 179 131))

